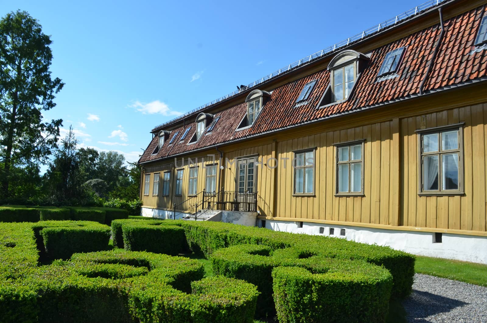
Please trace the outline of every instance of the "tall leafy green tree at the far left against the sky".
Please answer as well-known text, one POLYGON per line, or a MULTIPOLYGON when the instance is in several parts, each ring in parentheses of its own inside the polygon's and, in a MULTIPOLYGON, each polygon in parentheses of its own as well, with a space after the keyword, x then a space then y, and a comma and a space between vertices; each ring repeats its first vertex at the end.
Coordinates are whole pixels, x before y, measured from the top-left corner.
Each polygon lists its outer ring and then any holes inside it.
POLYGON ((44 161, 56 147, 62 120, 43 121, 64 83, 51 78, 50 37, 25 11, 0 20, 0 194, 10 195, 13 167, 44 161))

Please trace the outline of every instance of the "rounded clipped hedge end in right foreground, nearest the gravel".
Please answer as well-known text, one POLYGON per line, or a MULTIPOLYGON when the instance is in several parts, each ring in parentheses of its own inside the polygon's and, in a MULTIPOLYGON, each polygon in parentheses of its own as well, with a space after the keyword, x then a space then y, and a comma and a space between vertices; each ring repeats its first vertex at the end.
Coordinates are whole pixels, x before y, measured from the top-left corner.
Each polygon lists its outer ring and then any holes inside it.
POLYGON ((277 267, 272 271, 279 322, 385 322, 392 276, 362 261, 323 258, 328 270, 277 267))

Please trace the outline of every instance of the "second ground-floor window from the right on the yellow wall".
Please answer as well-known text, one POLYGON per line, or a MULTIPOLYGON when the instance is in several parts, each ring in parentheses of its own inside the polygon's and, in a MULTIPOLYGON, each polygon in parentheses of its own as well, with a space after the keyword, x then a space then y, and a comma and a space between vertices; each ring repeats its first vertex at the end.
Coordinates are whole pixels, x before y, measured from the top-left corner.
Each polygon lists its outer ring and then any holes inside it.
POLYGON ((336 145, 337 195, 363 194, 363 141, 344 142, 336 145))

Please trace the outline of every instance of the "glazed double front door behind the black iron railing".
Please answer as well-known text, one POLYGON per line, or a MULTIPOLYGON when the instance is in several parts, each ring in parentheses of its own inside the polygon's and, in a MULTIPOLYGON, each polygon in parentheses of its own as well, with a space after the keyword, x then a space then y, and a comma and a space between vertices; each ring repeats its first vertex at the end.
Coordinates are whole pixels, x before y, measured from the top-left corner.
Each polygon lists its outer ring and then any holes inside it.
POLYGON ((255 212, 257 157, 242 158, 237 163, 237 201, 240 211, 255 212))

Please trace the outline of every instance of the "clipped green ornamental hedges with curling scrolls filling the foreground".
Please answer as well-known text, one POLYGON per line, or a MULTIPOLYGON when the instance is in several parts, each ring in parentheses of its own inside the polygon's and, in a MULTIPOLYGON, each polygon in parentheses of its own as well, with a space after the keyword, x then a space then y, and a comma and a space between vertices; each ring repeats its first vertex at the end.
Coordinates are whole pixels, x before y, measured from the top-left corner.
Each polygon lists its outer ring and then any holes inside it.
POLYGON ((0 222, 0 255, 0 322, 384 322, 414 269, 389 247, 174 220, 0 222))

